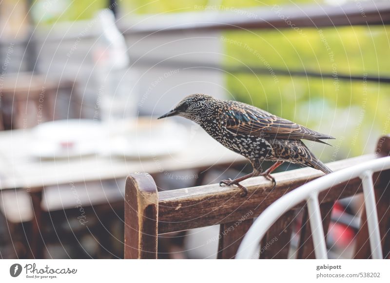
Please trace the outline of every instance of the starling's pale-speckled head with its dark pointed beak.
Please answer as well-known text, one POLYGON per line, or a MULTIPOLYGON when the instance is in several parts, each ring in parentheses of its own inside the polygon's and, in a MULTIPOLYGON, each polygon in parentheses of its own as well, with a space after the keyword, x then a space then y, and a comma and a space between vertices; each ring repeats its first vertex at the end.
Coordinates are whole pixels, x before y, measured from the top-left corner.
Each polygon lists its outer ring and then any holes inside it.
POLYGON ((210 112, 216 101, 217 100, 210 95, 191 94, 180 101, 171 111, 157 119, 170 116, 181 116, 197 122, 198 120, 201 120, 202 117, 207 118, 207 113, 210 112))

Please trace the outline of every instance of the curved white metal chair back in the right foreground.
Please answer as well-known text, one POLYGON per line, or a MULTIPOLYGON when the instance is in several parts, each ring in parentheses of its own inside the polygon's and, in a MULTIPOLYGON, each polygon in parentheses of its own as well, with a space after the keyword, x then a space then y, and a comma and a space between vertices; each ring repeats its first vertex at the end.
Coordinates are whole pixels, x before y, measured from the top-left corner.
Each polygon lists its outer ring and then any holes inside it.
POLYGON ((285 212, 306 200, 310 216, 315 257, 317 259, 327 259, 328 254, 321 221, 318 194, 337 183, 359 177, 362 180, 363 185, 372 258, 382 259, 383 255, 372 175, 375 172, 388 169, 390 169, 390 157, 374 159, 315 179, 280 197, 254 221, 238 248, 236 258, 254 258, 254 255, 259 251, 261 239, 264 237, 267 230, 271 228, 273 223, 285 212))

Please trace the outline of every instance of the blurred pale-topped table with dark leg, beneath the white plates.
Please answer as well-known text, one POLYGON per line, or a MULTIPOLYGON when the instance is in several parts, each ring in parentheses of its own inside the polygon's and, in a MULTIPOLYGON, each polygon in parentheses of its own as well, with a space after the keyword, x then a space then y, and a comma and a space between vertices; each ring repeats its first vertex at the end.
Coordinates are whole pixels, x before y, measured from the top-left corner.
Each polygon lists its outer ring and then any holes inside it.
POLYGON ((40 160, 29 154, 28 145, 33 138, 31 129, 0 132, 0 190, 19 188, 30 193, 34 210, 31 248, 35 258, 42 258, 39 227, 43 213, 42 191, 47 186, 125 178, 133 172, 156 175, 186 169, 206 170, 216 165, 229 166, 245 161, 214 141, 201 128, 191 130, 185 147, 176 154, 149 159, 96 154, 40 160))

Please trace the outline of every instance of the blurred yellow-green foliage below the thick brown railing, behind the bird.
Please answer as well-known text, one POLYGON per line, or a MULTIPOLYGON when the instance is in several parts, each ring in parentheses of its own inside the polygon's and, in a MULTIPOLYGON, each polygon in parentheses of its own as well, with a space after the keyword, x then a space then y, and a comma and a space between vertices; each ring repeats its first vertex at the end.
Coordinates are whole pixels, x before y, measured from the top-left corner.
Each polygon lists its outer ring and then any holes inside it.
MULTIPOLYGON (((269 75, 229 74, 228 89, 237 100, 341 138, 341 142, 331 142, 337 146, 336 159, 372 152, 378 136, 390 132, 390 85, 363 77, 390 76, 389 31, 386 27, 342 27, 301 32, 225 33, 227 65, 270 71, 269 75), (272 75, 275 69, 317 71, 334 77, 272 75), (341 80, 340 74, 362 80, 341 80)), ((335 149, 325 150, 327 159, 335 149)))

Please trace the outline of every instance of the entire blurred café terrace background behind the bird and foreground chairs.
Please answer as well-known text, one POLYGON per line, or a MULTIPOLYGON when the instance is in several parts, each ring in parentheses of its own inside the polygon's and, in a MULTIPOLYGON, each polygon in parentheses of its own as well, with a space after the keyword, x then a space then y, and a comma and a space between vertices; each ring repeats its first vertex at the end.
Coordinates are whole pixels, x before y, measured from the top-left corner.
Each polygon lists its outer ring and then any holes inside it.
MULTIPOLYGON (((390 132, 389 11, 371 0, 3 0, 0 257, 121 258, 127 174, 168 190, 250 172, 195 124, 157 123, 191 93, 336 137, 308 142, 324 162, 373 153, 390 132)), ((334 208, 331 257, 353 246, 359 208, 334 208)), ((217 233, 164 238, 160 257, 215 258, 217 233)))

